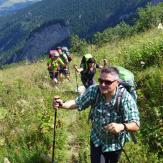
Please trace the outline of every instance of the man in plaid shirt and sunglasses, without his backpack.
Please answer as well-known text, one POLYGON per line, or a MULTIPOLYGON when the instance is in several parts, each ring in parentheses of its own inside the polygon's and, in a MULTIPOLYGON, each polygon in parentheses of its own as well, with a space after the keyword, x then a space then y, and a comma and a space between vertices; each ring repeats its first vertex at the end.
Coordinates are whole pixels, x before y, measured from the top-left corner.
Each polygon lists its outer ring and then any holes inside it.
POLYGON ((91 106, 91 163, 100 163, 101 160, 105 160, 105 163, 117 163, 124 143, 130 138, 128 132, 139 130, 139 112, 134 99, 126 90, 120 111, 116 111, 116 97, 120 91, 116 68, 103 68, 98 81, 99 85, 90 86, 76 100, 64 103, 61 99, 54 100, 53 106, 79 111, 91 106))

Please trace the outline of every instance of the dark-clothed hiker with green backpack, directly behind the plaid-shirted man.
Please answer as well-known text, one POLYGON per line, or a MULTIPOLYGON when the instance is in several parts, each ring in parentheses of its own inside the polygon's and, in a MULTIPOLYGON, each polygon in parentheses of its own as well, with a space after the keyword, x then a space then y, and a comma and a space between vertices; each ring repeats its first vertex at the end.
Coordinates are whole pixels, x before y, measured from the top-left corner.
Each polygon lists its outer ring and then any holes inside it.
POLYGON ((87 89, 89 86, 95 84, 93 79, 96 73, 96 68, 101 68, 99 64, 96 64, 96 60, 91 54, 85 54, 81 60, 80 68, 74 65, 77 72, 81 73, 81 81, 84 87, 87 89))

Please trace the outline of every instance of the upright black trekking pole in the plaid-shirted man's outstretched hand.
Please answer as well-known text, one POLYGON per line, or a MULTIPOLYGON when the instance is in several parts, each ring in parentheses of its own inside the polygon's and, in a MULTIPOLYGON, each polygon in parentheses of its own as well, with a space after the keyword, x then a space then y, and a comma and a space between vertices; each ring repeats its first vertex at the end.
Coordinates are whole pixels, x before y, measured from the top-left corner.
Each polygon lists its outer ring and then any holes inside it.
MULTIPOLYGON (((54 97, 54 100, 59 99, 59 96, 54 97)), ((56 139, 56 122, 57 122, 57 109, 54 112, 54 132, 53 132, 53 151, 52 151, 52 163, 54 163, 55 156, 55 139, 56 139)))

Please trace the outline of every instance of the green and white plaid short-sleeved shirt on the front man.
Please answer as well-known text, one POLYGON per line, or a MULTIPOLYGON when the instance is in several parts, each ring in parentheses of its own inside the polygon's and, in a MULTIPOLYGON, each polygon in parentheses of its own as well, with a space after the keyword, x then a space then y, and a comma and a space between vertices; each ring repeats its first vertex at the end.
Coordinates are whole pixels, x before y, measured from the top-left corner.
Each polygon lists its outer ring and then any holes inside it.
POLYGON ((137 105, 127 91, 125 91, 122 97, 119 113, 116 111, 114 105, 118 91, 119 89, 117 88, 116 94, 109 103, 106 103, 105 97, 102 95, 99 96, 98 102, 96 102, 97 94, 100 94, 100 91, 97 85, 93 85, 90 86, 83 95, 76 99, 79 111, 89 106, 92 107, 91 141, 97 147, 101 145, 103 152, 120 150, 121 146, 130 138, 129 133, 126 132, 121 132, 117 135, 109 133, 104 129, 106 124, 112 122, 136 122, 138 126, 140 125, 137 105), (121 143, 121 145, 119 143, 121 143))

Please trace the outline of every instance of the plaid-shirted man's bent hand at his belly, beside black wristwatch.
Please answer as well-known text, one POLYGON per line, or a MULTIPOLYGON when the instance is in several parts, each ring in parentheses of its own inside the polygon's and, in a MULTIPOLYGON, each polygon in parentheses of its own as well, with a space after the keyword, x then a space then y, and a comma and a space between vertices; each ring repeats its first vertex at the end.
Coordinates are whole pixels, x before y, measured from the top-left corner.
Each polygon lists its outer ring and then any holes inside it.
POLYGON ((104 128, 110 133, 117 134, 124 130, 124 125, 122 123, 109 123, 104 128))

